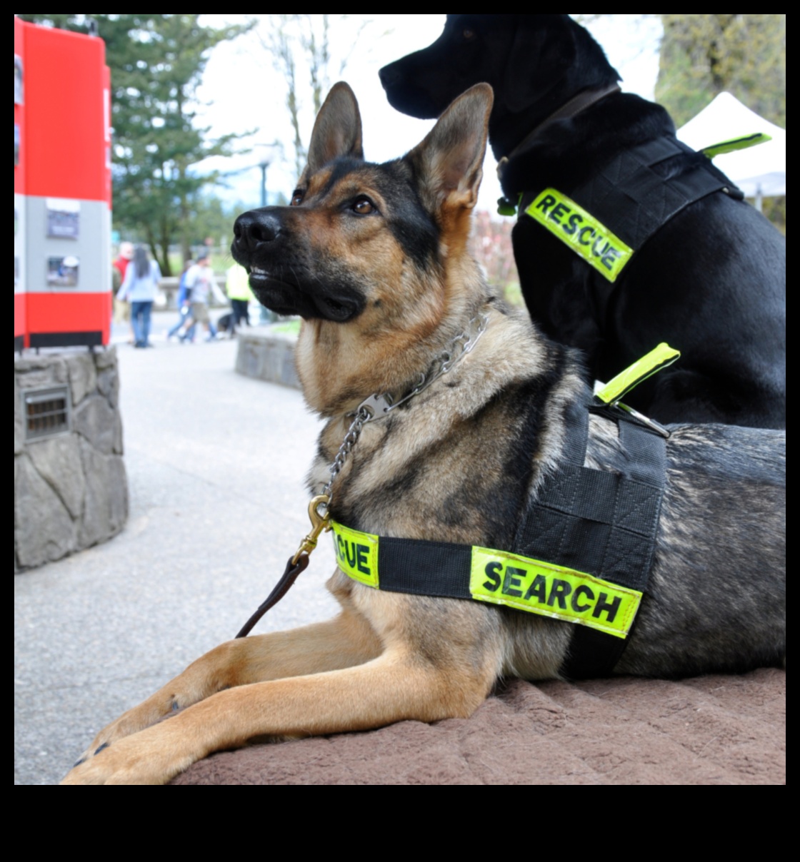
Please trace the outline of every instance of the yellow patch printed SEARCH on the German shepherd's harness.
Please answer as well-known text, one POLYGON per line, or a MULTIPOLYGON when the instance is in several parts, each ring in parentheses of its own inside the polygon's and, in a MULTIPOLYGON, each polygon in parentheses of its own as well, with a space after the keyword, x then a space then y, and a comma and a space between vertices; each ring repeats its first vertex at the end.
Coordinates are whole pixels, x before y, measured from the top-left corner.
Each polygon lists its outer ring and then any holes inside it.
POLYGON ((538 559, 488 547, 472 548, 469 592, 478 602, 577 622, 624 638, 642 594, 538 559))

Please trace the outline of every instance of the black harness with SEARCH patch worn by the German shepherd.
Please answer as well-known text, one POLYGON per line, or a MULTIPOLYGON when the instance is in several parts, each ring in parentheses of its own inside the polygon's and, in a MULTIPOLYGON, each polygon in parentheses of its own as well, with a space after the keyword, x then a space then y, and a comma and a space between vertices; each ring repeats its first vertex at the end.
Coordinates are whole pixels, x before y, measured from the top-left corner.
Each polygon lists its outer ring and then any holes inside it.
MULTIPOLYGON (((677 358, 660 349, 660 367, 677 358)), ((607 676, 646 590, 664 495, 667 433, 619 404, 620 393, 654 372, 653 363, 648 367, 637 375, 632 366, 603 390, 611 395, 576 405, 561 463, 545 478, 510 550, 376 536, 331 522, 337 564, 379 590, 474 599, 575 623, 561 673, 607 676), (583 465, 589 411, 617 422, 622 472, 583 465)))

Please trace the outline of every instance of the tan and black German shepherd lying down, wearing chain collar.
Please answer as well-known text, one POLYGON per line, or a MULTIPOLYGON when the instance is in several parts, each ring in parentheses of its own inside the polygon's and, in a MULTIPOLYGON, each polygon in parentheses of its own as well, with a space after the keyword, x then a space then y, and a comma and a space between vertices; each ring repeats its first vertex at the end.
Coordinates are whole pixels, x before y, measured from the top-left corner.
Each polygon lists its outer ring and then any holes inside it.
MULTIPOLYGON (((576 353, 508 308, 466 251, 491 106, 491 88, 476 85, 418 147, 375 165, 362 157, 356 98, 337 84, 291 205, 236 220, 232 253, 257 297, 303 318, 299 376, 327 419, 314 493, 365 398, 419 389, 363 425, 332 479, 331 515, 354 530, 511 547, 559 463, 570 416, 591 397, 576 353), (478 316, 471 351, 420 387, 478 316)), ((592 417, 587 464, 622 469, 615 428, 592 417)), ((764 429, 672 428, 650 588, 615 672, 785 662, 783 441, 764 429)), ((162 783, 256 737, 469 716, 503 676, 562 675, 582 628, 374 589, 341 569, 328 587, 337 617, 207 653, 98 734, 66 783, 162 783)))

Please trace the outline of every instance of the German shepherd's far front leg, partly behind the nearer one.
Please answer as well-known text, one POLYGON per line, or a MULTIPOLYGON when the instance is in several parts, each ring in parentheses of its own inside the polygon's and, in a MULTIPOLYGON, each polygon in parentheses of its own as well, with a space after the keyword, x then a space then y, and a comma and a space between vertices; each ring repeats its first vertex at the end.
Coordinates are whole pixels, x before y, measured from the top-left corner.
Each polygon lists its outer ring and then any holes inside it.
POLYGON ((146 701, 112 721, 100 731, 79 763, 217 691, 361 665, 374 659, 381 649, 381 641, 369 622, 351 609, 344 609, 328 622, 230 640, 205 653, 146 701))

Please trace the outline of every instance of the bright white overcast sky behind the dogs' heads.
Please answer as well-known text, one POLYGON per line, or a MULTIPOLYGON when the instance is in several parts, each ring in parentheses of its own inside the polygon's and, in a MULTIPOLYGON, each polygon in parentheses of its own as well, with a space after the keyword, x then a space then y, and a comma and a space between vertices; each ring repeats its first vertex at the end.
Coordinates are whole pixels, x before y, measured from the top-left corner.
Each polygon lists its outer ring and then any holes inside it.
MULTIPOLYGON (((214 26, 243 20, 244 16, 203 16, 204 23, 214 26)), ((344 21, 331 16, 331 83, 342 78, 355 91, 362 112, 364 152, 370 161, 386 161, 406 153, 431 128, 432 121, 415 120, 389 106, 378 70, 406 53, 429 45, 438 38, 443 26, 444 15, 370 16, 369 23, 365 23, 362 16, 349 16, 344 21), (346 66, 339 76, 337 69, 345 57, 346 66)), ((652 99, 661 35, 658 18, 602 16, 590 29, 605 48, 612 66, 622 75, 623 90, 652 99)), ((306 89, 306 84, 300 84, 299 97, 302 99, 307 92, 308 103, 310 86, 306 89)), ((231 159, 209 159, 201 166, 234 172, 227 180, 230 187, 219 190, 226 200, 242 201, 250 206, 260 202, 261 172, 255 166, 265 153, 274 159, 267 175, 269 193, 274 195, 280 191, 288 197, 293 191, 291 147, 287 147, 285 158, 281 158, 280 150, 263 148, 273 141, 288 143, 293 138, 285 103, 286 89, 256 33, 224 42, 211 53, 204 83, 198 91, 198 98, 204 103, 198 122, 210 126, 212 135, 256 132, 242 139, 243 143, 254 147, 252 153, 231 159)), ((313 123, 310 109, 306 110, 303 121, 307 145, 313 123)), ((494 211, 500 194, 494 159, 488 153, 478 207, 494 211)))

